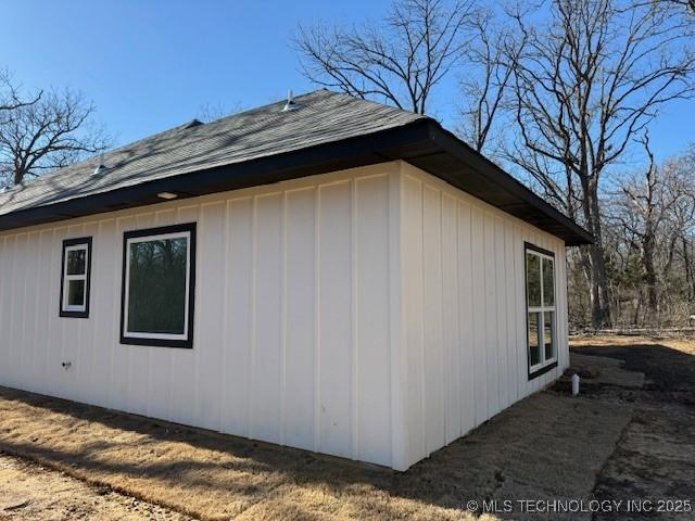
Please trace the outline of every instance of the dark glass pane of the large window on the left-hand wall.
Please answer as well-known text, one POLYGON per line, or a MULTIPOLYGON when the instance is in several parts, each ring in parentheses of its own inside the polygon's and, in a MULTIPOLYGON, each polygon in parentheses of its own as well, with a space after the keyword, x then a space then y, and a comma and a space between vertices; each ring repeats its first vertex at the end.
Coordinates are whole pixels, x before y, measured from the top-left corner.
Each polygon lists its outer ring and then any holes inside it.
POLYGON ((188 239, 129 247, 128 331, 184 334, 188 239))

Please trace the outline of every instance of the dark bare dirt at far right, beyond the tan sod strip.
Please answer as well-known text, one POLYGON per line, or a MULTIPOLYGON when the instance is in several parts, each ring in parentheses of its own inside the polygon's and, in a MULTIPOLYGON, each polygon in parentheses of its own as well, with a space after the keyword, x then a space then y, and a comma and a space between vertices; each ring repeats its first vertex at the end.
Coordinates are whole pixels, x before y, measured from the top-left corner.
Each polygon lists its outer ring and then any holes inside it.
MULTIPOLYGON (((595 486, 599 498, 669 498, 695 504, 695 341, 683 339, 609 338, 573 342, 573 355, 621 360, 626 370, 644 374, 644 385, 601 384, 589 396, 607 403, 630 403, 632 421, 595 486)), ((661 503, 665 509, 679 505, 661 503)), ((695 519, 674 511, 633 512, 631 519, 695 519)), ((612 519, 595 516, 595 519, 612 519)))

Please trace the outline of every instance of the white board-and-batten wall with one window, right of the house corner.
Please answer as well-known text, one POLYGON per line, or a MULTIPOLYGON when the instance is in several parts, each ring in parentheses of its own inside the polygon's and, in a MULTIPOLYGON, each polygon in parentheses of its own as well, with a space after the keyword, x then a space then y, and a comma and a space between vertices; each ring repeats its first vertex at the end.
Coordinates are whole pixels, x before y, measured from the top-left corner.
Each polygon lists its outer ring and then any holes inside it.
POLYGON ((565 243, 403 164, 406 465, 569 366, 565 243), (555 254, 558 367, 529 381, 525 241, 555 254))

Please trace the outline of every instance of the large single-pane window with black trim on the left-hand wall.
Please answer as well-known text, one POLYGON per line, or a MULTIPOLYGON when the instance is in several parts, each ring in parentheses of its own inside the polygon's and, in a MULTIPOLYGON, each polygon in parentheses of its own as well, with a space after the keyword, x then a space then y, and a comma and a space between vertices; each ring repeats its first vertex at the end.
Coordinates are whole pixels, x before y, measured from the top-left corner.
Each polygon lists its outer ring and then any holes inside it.
POLYGON ((195 224, 126 232, 123 249, 121 343, 192 347, 195 224))

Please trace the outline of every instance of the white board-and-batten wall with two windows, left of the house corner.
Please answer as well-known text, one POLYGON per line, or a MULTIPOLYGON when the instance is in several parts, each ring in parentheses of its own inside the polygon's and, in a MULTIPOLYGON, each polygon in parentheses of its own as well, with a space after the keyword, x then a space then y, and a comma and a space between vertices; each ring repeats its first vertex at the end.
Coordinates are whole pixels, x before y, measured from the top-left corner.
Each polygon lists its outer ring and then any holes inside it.
POLYGON ((0 383, 392 466, 397 175, 384 163, 1 233, 0 383), (193 348, 121 344, 123 233, 193 221, 193 348), (87 236, 90 316, 61 318, 62 241, 87 236))

